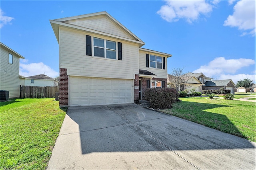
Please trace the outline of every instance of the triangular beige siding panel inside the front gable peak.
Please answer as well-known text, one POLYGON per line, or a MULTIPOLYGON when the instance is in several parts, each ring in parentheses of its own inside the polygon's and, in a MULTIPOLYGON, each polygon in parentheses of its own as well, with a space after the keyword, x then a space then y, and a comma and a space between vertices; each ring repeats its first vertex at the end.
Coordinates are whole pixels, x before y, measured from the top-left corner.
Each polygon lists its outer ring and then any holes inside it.
POLYGON ((102 16, 94 16, 86 19, 69 20, 64 21, 64 23, 69 23, 72 25, 93 29, 103 33, 110 33, 112 35, 117 35, 120 37, 134 39, 128 33, 124 32, 116 23, 112 22, 110 19, 102 16))

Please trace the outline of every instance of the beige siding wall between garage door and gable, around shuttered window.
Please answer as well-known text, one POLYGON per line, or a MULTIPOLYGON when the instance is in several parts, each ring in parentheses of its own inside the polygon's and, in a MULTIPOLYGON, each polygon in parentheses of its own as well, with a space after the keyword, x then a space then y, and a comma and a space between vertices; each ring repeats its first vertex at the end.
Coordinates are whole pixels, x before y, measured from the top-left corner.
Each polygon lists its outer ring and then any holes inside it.
POLYGON ((134 79, 138 74, 138 45, 63 27, 59 30, 60 68, 67 68, 69 76, 134 79), (121 42, 122 61, 86 56, 86 35, 121 42))

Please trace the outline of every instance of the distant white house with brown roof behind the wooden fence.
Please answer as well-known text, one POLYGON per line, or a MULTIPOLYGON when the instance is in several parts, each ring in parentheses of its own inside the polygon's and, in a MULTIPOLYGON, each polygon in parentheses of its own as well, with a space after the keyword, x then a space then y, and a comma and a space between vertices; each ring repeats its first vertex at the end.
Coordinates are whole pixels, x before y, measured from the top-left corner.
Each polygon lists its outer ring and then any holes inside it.
POLYGON ((39 86, 39 87, 47 87, 47 86, 58 86, 58 82, 44 74, 37 74, 35 76, 22 77, 24 78, 25 86, 39 86))

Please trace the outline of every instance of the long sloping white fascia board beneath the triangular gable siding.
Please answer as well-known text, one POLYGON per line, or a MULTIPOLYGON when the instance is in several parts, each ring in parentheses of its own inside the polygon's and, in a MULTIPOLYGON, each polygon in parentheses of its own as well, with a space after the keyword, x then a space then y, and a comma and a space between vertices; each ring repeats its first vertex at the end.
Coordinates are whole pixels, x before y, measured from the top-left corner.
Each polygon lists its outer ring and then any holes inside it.
POLYGON ((139 47, 142 47, 143 45, 145 45, 145 43, 141 42, 141 41, 136 41, 136 40, 133 40, 133 39, 119 37, 119 36, 112 35, 112 34, 109 34, 109 33, 104 33, 104 32, 100 32, 100 31, 96 31, 94 29, 88 29, 88 28, 79 27, 79 26, 76 26, 76 25, 70 25, 68 23, 58 22, 58 21, 55 21, 55 20, 50 20, 50 22, 53 25, 52 28, 53 29, 55 28, 54 29, 54 33, 55 33, 55 36, 56 36, 57 40, 58 40, 58 36, 59 36, 58 35, 59 26, 62 26, 62 27, 66 27, 66 28, 69 28, 69 29, 76 29, 76 30, 80 30, 80 31, 82 30, 82 31, 87 31, 87 32, 95 33, 95 34, 98 34, 98 35, 105 35, 107 37, 111 37, 111 38, 114 37, 116 39, 120 39, 120 40, 124 40, 124 41, 129 41, 129 42, 138 44, 139 47))

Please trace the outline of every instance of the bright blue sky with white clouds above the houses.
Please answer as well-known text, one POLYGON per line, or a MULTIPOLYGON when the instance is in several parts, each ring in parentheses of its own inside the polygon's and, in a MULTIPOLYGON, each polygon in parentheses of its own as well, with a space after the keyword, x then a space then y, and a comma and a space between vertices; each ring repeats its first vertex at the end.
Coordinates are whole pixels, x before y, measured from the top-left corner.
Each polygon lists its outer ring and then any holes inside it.
POLYGON ((255 1, 0 2, 0 41, 18 52, 20 74, 59 74, 59 48, 49 20, 106 11, 146 44, 172 54, 173 68, 214 80, 256 81, 255 1))

